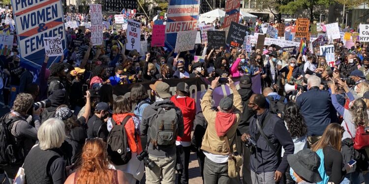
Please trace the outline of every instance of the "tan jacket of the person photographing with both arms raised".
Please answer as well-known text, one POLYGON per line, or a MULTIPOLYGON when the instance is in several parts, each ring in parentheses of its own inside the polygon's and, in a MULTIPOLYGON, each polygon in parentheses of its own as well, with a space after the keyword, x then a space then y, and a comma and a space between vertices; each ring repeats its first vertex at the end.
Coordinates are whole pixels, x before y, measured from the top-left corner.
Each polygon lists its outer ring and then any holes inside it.
MULTIPOLYGON (((212 93, 212 90, 208 90, 201 102, 202 112, 208 122, 208 128, 205 131, 201 149, 215 155, 227 155, 228 151, 225 146, 224 137, 218 137, 215 131, 216 111, 212 110, 212 93)), ((237 90, 233 92, 233 105, 235 106, 233 113, 236 114, 236 123, 228 130, 227 137, 231 149, 233 147, 233 151, 236 151, 236 131, 242 115, 242 100, 237 90)))

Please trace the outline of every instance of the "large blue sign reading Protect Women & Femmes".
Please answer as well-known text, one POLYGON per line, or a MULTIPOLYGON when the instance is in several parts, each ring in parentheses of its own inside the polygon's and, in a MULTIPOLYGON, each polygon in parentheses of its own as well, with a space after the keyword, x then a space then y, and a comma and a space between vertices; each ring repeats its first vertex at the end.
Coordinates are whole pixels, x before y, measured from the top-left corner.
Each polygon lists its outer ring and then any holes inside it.
MULTIPOLYGON (((45 60, 43 38, 61 37, 63 52, 66 52, 64 14, 60 0, 39 2, 11 0, 15 18, 18 48, 21 62, 26 68, 40 69, 45 60)), ((60 57, 50 57, 48 67, 60 57)))

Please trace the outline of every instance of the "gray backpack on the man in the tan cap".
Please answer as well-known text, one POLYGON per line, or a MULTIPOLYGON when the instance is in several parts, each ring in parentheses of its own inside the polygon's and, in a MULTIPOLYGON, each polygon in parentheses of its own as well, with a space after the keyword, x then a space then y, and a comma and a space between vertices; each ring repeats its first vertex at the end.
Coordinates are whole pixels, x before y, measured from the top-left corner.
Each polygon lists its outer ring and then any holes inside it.
POLYGON ((157 145, 174 144, 178 135, 178 118, 175 108, 158 108, 156 119, 153 124, 156 130, 150 131, 152 134, 151 143, 157 145))

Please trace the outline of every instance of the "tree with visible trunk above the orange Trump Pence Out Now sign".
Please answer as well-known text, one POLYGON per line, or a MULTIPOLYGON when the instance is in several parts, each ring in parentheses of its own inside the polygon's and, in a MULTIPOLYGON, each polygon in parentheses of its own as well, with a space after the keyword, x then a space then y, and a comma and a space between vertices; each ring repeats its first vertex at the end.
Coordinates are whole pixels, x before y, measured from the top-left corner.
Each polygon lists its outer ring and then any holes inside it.
POLYGON ((309 9, 310 11, 310 22, 314 21, 313 9, 314 6, 323 5, 328 7, 334 1, 331 0, 295 0, 290 1, 285 5, 279 6, 279 11, 282 13, 295 14, 297 11, 302 9, 309 9))

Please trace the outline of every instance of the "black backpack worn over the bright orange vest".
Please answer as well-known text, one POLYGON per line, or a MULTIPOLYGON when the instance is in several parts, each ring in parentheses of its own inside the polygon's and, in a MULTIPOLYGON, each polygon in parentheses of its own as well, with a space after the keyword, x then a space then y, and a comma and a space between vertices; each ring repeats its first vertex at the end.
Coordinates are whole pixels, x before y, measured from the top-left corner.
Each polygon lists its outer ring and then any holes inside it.
POLYGON ((121 125, 118 125, 113 118, 111 118, 112 124, 114 125, 108 135, 107 151, 110 161, 115 165, 124 165, 132 157, 131 150, 128 146, 127 132, 125 131, 124 125, 132 116, 126 116, 121 125))

